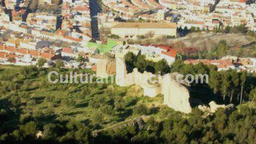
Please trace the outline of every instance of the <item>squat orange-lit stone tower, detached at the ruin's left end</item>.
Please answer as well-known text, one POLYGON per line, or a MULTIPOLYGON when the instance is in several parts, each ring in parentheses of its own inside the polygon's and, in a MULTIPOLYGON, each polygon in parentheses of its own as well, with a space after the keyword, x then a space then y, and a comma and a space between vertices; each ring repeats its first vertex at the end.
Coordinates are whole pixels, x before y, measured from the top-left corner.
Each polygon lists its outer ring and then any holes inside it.
POLYGON ((97 63, 96 75, 100 78, 108 78, 116 74, 116 62, 102 59, 97 63))

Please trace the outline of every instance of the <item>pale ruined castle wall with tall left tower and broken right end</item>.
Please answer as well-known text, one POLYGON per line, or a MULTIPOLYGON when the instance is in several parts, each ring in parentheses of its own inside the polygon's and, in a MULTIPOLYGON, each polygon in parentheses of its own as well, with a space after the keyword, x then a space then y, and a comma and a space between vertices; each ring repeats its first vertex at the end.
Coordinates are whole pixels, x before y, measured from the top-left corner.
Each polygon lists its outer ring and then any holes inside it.
POLYGON ((169 108, 183 113, 190 113, 188 89, 178 83, 174 77, 175 74, 166 74, 158 76, 150 72, 140 73, 135 68, 133 72, 127 74, 125 61, 122 57, 116 57, 116 84, 121 87, 130 85, 139 85, 142 87, 145 96, 155 97, 158 94, 164 95, 164 104, 169 108))

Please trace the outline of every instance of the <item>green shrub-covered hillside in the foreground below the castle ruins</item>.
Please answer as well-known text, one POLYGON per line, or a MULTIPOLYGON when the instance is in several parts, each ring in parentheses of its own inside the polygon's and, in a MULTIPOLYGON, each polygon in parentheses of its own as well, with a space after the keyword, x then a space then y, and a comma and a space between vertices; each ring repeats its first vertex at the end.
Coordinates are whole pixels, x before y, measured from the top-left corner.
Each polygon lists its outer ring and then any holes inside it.
MULTIPOLYGON (((253 102, 229 113, 219 109, 210 117, 204 117, 197 108, 185 115, 162 106, 163 96, 142 96, 141 89, 135 86, 50 84, 48 72, 66 74, 71 70, 33 66, 0 68, 2 142, 254 143, 256 140, 253 102), (142 115, 150 117, 145 124, 142 122, 143 126, 122 123, 142 115), (94 136, 93 130, 101 132, 94 136), (41 138, 36 137, 39 131, 42 131, 41 138)), ((176 63, 172 70, 177 68, 182 71, 184 66, 176 63)))

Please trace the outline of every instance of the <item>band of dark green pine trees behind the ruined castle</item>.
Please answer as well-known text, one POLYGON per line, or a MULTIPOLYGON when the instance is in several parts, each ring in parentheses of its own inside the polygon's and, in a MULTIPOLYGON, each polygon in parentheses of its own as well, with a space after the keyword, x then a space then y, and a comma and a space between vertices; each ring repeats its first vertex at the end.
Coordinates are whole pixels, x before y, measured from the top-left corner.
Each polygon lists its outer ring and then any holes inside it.
MULTIPOLYGON (((220 43, 210 54, 212 54, 212 57, 223 55, 226 48, 225 42, 220 43)), ((138 68, 139 72, 147 71, 153 74, 158 72, 161 72, 161 74, 179 72, 184 76, 191 74, 193 78, 197 78, 199 74, 207 75, 208 81, 206 81, 205 77, 203 79, 199 77, 198 80, 203 81, 203 83, 196 83, 196 81, 191 83, 192 98, 199 98, 206 104, 211 100, 224 104, 242 104, 244 100, 249 100, 250 93, 254 93, 253 88, 256 85, 255 74, 236 72, 236 70, 232 69, 217 72, 217 67, 214 65, 207 66, 202 63, 199 65, 185 65, 182 61, 177 60, 170 67, 164 59, 154 63, 146 60, 144 55, 134 55, 132 52, 127 53, 124 59, 127 65, 127 72, 138 68), (200 91, 198 91, 199 89, 200 91), (204 96, 204 94, 208 94, 208 96, 204 96)))

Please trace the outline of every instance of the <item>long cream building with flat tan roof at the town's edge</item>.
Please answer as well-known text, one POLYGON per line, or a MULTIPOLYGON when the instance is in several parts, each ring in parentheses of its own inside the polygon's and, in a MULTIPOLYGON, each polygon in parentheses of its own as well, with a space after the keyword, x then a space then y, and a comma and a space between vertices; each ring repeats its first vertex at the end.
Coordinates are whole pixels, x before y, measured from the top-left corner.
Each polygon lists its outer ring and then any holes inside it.
POLYGON ((176 23, 128 23, 120 22, 111 27, 111 34, 121 38, 136 38, 151 33, 154 36, 176 36, 176 23))

